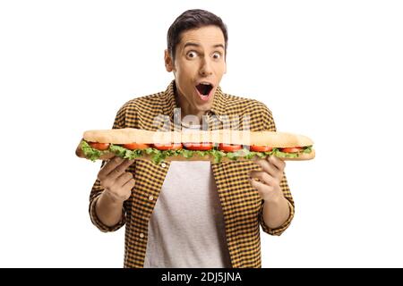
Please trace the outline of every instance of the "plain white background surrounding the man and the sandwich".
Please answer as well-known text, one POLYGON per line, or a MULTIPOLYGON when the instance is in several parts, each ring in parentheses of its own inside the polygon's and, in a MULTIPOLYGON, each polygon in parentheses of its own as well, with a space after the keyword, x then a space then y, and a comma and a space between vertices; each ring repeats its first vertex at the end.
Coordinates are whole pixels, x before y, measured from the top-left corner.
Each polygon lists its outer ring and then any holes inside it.
POLYGON ((203 8, 229 33, 229 94, 315 141, 289 162, 296 217, 263 267, 403 266, 399 1, 2 1, 0 266, 121 267, 88 215, 99 163, 74 156, 133 97, 165 90, 166 34, 203 8))

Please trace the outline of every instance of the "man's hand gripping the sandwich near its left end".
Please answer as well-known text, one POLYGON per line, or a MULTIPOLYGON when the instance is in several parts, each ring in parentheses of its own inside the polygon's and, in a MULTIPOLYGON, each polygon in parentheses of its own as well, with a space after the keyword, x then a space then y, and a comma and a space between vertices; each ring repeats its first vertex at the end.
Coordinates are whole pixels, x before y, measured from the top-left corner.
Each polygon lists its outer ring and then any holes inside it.
POLYGON ((134 160, 114 157, 105 164, 98 173, 104 193, 116 203, 123 203, 132 195, 134 187, 133 174, 126 169, 133 164, 134 160))

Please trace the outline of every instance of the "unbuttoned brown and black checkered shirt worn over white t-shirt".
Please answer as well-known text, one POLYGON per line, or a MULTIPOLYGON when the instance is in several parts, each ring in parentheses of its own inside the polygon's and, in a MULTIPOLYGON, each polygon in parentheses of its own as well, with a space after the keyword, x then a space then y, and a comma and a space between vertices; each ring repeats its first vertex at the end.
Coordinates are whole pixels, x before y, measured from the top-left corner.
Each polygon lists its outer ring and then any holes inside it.
MULTIPOLYGON (((113 128, 161 130, 161 124, 169 121, 172 124, 166 124, 166 126, 171 126, 169 128, 173 130, 175 128, 174 109, 179 107, 175 90, 175 80, 173 80, 166 91, 128 101, 116 114, 113 128)), ((266 105, 257 100, 227 95, 221 91, 221 88, 217 88, 212 107, 207 113, 209 130, 222 129, 223 126, 228 126, 226 124, 232 124, 233 118, 246 115, 250 119, 250 130, 276 130, 271 112, 266 105)), ((242 124, 243 122, 240 122, 236 128, 242 130, 242 124)), ((132 196, 124 202, 122 219, 113 227, 107 227, 101 223, 95 213, 97 199, 103 191, 99 180, 95 181, 91 189, 92 223, 100 231, 116 231, 125 224, 124 267, 143 266, 150 215, 159 198, 168 168, 167 161, 162 161, 158 165, 145 160, 134 161, 128 169, 129 172, 133 172, 135 180, 132 196)), ((253 189, 248 181, 248 173, 251 170, 259 170, 257 164, 252 161, 222 162, 211 163, 211 168, 223 210, 231 264, 236 268, 262 267, 259 225, 262 226, 263 231, 271 235, 280 235, 294 217, 294 201, 286 176, 284 175, 280 187, 290 203, 290 216, 279 228, 270 229, 263 222, 264 202, 258 191, 253 189)), ((183 219, 188 218, 184 215, 183 219)))

